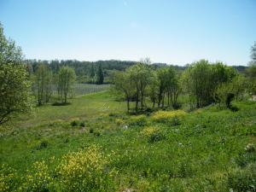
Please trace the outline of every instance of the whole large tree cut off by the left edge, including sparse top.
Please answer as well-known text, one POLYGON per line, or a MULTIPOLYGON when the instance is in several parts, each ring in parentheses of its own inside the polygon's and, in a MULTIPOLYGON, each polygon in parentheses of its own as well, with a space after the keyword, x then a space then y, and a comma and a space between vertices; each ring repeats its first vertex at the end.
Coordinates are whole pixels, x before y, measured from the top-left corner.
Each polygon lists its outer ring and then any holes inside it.
POLYGON ((22 53, 5 38, 0 24, 0 125, 32 109, 31 82, 22 53))

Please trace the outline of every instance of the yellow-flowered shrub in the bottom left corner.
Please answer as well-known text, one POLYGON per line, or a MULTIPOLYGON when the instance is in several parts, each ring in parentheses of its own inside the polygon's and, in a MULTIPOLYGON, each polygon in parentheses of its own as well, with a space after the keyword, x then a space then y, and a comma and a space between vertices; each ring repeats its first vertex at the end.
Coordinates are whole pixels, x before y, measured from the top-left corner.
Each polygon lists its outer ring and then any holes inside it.
POLYGON ((9 166, 3 164, 0 169, 0 191, 14 191, 17 173, 9 166))

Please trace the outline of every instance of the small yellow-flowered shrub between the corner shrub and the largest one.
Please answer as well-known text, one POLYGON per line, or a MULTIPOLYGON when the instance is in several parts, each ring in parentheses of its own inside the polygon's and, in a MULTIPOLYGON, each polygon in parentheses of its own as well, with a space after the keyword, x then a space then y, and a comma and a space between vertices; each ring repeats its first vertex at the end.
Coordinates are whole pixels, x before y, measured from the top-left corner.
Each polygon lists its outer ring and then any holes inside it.
POLYGON ((43 161, 36 161, 24 178, 22 191, 50 191, 53 184, 49 168, 43 161))

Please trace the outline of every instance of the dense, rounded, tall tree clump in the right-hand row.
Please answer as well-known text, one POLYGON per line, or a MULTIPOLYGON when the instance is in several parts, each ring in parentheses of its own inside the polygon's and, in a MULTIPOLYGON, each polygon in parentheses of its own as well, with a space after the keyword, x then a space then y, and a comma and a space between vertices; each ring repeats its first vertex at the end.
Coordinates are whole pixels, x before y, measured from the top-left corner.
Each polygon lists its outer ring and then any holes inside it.
POLYGON ((184 90, 189 93, 192 108, 201 108, 211 104, 214 90, 219 84, 230 82, 236 72, 218 62, 211 65, 206 60, 193 63, 183 73, 184 90))

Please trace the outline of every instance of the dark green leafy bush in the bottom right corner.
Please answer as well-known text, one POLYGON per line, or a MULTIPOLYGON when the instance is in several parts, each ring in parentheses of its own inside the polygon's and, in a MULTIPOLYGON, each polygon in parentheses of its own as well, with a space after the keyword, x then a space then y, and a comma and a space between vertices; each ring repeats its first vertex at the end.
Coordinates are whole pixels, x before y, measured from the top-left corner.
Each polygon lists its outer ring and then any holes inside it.
POLYGON ((232 191, 256 191, 256 164, 231 172, 228 176, 228 187, 232 191))

